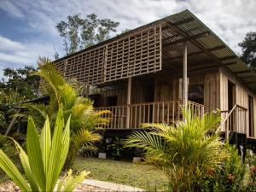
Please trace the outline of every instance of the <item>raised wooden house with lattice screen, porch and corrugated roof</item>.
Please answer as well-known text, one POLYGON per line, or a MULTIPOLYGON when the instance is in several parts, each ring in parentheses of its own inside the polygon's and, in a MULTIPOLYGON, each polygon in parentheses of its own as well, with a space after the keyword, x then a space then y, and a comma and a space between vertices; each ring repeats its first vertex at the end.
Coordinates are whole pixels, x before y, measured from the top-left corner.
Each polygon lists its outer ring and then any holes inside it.
POLYGON ((220 109, 221 130, 256 139, 256 73, 189 10, 55 61, 66 77, 102 88, 91 96, 112 113, 109 130, 181 120, 220 109), (186 80, 183 80, 186 79, 186 80))

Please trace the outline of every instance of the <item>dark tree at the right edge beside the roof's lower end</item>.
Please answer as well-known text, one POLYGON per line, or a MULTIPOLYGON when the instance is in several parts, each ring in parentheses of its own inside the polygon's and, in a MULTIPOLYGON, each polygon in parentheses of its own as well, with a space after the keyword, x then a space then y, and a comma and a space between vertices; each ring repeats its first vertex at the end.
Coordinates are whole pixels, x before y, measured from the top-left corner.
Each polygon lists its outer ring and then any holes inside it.
POLYGON ((248 32, 238 45, 241 47, 241 60, 256 70, 256 32, 248 32))

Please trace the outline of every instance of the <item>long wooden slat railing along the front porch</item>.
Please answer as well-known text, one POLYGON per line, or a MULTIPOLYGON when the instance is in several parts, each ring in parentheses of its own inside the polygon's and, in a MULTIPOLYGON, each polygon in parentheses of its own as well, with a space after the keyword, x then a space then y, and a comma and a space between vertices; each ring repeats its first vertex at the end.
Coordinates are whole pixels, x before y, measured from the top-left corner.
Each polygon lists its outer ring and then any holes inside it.
MULTIPOLYGON (((196 102, 189 102, 196 115, 202 116, 204 106, 196 102)), ((103 114, 103 118, 110 119, 106 129, 137 129, 143 123, 166 123, 168 125, 182 120, 182 102, 145 102, 131 104, 130 106, 112 106, 96 108, 96 110, 109 110, 111 113, 103 114), (129 110, 127 110, 129 108, 129 110), (128 127, 126 125, 127 111, 130 111, 128 127)))

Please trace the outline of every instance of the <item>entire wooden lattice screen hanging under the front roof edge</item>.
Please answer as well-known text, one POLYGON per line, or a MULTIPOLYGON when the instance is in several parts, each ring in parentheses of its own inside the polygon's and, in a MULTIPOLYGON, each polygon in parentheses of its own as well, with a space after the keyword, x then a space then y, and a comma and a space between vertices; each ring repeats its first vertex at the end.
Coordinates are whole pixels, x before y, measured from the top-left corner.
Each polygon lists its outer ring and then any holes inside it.
POLYGON ((102 84, 161 70, 161 26, 118 38, 95 49, 55 61, 66 78, 102 84))

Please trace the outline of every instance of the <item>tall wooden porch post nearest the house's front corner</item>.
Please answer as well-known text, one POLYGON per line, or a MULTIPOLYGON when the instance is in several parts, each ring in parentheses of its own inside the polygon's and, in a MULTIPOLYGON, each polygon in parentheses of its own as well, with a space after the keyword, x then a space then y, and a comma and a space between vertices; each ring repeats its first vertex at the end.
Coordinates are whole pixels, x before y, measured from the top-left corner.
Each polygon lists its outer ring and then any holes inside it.
POLYGON ((187 42, 183 47, 183 106, 188 102, 188 48, 187 42))

